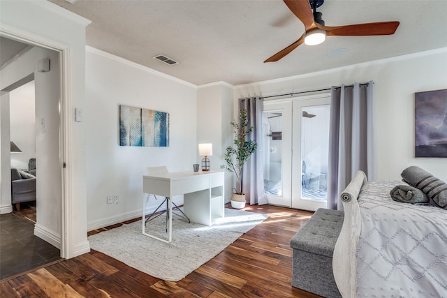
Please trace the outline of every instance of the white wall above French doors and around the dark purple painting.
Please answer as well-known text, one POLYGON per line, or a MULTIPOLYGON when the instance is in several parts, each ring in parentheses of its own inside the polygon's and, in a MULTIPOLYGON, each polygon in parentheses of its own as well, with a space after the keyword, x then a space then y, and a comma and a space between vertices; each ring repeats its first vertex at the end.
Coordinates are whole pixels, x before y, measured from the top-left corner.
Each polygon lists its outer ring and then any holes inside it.
POLYGON ((414 93, 447 88, 447 48, 235 87, 235 99, 374 81, 376 179, 418 165, 447 181, 447 158, 414 158, 414 93))

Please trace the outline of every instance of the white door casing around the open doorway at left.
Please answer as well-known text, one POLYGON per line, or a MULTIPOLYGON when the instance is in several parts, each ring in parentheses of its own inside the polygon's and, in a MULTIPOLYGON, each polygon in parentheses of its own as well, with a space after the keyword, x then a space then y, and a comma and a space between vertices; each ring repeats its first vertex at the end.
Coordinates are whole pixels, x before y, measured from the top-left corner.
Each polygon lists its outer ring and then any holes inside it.
MULTIPOLYGON (((0 28, 0 36, 17 40, 21 43, 27 43, 59 53, 60 77, 59 77, 59 164, 64 165, 68 156, 71 156, 71 123, 68 121, 71 107, 71 82, 69 73, 71 72, 70 64, 70 47, 59 43, 56 40, 44 38, 34 33, 29 33, 15 27, 2 25, 0 28)), ((71 171, 61 166, 61 235, 60 235, 60 251, 62 258, 71 258, 73 256, 73 201, 71 200, 71 171)))

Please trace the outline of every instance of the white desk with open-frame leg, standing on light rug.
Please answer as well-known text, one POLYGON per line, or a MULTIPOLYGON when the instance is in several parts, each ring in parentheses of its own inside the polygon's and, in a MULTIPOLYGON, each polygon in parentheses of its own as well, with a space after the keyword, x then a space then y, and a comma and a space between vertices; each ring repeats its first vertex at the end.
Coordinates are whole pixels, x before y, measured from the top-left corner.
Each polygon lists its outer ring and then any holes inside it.
POLYGON ((172 200, 168 206, 168 240, 145 232, 145 193, 173 198, 184 195, 184 213, 195 223, 212 225, 216 218, 224 216, 224 172, 173 172, 142 177, 142 234, 169 243, 173 234, 172 200))

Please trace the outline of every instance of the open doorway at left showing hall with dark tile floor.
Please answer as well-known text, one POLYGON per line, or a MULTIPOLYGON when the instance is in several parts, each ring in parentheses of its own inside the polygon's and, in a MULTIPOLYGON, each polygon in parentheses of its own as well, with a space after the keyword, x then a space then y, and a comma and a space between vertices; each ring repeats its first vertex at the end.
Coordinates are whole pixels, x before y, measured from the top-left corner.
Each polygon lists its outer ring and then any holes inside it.
MULTIPOLYGON (((27 271, 34 269, 32 268, 34 266, 39 267, 46 262, 60 259, 64 233, 62 232, 63 214, 61 208, 61 154, 59 154, 61 151, 59 148, 61 144, 59 140, 61 119, 59 110, 61 106, 59 52, 24 44, 19 52, 10 55, 11 47, 8 47, 8 45, 16 45, 20 42, 5 37, 1 37, 1 41, 0 61, 2 61, 2 65, 0 70, 5 71, 6 74, 11 72, 21 74, 17 77, 13 76, 13 79, 17 82, 11 81, 12 83, 8 86, 2 85, 1 90, 1 221, 3 223, 4 220, 11 224, 14 223, 17 227, 22 227, 22 230, 17 230, 14 235, 12 233, 14 229, 7 232, 2 228, 2 240, 10 240, 2 241, 1 244, 1 278, 5 278, 8 274, 18 274, 20 270, 27 271), (5 55, 9 58, 5 58, 5 55), (38 66, 38 61, 41 59, 52 61, 52 68, 35 71, 36 65, 38 66), (15 94, 20 90, 20 87, 27 86, 30 82, 35 83, 35 88, 32 87, 35 94, 35 104, 31 105, 29 102, 11 103, 12 100, 17 100, 15 94), (6 114, 8 114, 8 117, 6 117, 6 114), (29 128, 31 123, 32 128, 29 128), (9 144, 10 141, 20 145, 22 151, 20 154, 13 156, 13 154, 10 155, 9 148, 6 150, 6 144, 9 144), (5 162, 5 160, 9 160, 10 156, 13 157, 10 159, 13 164, 10 164, 9 161, 5 162), (4 211, 7 211, 7 205, 12 211, 10 165, 22 172, 29 172, 30 159, 33 158, 34 165, 36 165, 34 170, 38 171, 38 174, 36 172, 34 174, 38 178, 36 178, 35 215, 29 216, 30 219, 34 217, 35 222, 31 223, 23 216, 4 211), (22 221, 17 221, 17 218, 22 221), (6 234, 3 234, 3 232, 6 234), (14 245, 18 245, 17 248, 13 248, 14 245), (23 247, 25 248, 23 249, 23 247), (23 253, 17 255, 18 251, 23 253), (51 253, 45 254, 46 257, 43 258, 43 251, 51 253), (17 264, 11 262, 11 258, 17 260, 17 256, 20 255, 22 255, 22 258, 18 259, 17 264)), ((14 47, 12 50, 14 50, 14 47)), ((41 69, 38 68, 38 70, 41 69)), ((18 96, 19 100, 22 100, 24 95, 20 94, 18 96)), ((21 205, 23 207, 30 205, 31 208, 33 207, 32 202, 24 202, 21 205)))

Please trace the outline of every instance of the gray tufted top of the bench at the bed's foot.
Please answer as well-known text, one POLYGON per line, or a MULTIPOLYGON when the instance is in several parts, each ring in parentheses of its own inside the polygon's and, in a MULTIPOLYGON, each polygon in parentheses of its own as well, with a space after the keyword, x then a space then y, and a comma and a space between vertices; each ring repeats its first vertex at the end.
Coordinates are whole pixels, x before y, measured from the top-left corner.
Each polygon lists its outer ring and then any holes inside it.
POLYGON ((344 211, 320 208, 291 239, 291 247, 332 258, 344 211))

